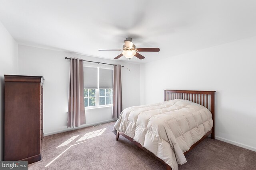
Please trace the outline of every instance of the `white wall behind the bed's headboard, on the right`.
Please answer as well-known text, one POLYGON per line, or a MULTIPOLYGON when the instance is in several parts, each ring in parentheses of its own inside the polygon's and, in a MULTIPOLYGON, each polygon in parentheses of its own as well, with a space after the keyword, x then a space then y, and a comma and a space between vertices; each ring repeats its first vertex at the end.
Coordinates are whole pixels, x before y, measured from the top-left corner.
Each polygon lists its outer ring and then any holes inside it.
POLYGON ((216 90, 216 139, 256 151, 255 74, 256 37, 142 64, 141 104, 164 89, 216 90))

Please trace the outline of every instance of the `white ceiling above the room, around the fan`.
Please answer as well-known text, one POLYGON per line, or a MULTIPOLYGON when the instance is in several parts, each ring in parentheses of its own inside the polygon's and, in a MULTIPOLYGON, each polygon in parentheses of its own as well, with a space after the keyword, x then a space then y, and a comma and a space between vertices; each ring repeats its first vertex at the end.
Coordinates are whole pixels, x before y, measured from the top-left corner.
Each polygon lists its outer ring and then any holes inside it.
POLYGON ((160 48, 145 63, 255 36, 256 0, 0 0, 0 21, 18 44, 107 59, 132 37, 160 48))

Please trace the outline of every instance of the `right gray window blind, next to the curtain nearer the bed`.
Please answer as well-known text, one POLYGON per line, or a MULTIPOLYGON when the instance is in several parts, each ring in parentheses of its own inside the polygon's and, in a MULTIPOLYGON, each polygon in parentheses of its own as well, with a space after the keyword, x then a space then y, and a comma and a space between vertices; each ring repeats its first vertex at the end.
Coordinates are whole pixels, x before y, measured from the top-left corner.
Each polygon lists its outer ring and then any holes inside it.
POLYGON ((99 88, 113 88, 113 70, 99 68, 99 88))

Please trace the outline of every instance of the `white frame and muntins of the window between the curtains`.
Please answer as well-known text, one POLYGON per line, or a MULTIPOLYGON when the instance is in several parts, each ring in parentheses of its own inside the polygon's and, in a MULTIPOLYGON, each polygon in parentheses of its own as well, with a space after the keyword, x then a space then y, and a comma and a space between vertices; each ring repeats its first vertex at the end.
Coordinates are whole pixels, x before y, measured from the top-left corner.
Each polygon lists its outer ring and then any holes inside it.
MULTIPOLYGON (((84 67, 94 67, 97 68, 97 81, 98 81, 98 88, 94 88, 95 89, 95 106, 84 106, 84 109, 94 109, 94 108, 101 108, 101 107, 112 107, 113 106, 113 88, 99 88, 99 69, 100 68, 104 68, 104 67, 96 67, 96 66, 85 66, 84 67), (100 105, 100 89, 112 89, 112 104, 105 104, 106 105, 100 105)), ((109 70, 114 70, 114 68, 104 68, 104 69, 109 69, 109 70)), ((114 75, 113 75, 114 76, 114 75)), ((84 89, 89 89, 89 88, 84 88, 84 89)), ((106 94, 105 94, 106 95, 106 94)), ((102 96, 103 97, 103 96, 102 96)), ((84 97, 87 98, 87 97, 84 97)), ((106 96, 105 96, 106 98, 106 96)), ((88 93, 88 99, 89 99, 89 93, 88 93)), ((106 99, 105 99, 106 100, 106 99)))

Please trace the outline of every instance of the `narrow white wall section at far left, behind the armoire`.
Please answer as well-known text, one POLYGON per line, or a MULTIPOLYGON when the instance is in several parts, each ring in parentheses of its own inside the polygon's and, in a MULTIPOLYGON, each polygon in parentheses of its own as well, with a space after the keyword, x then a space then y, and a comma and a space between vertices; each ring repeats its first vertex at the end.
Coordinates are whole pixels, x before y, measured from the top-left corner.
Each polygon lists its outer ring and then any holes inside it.
POLYGON ((0 160, 4 159, 4 74, 18 74, 18 44, 0 22, 0 160))

